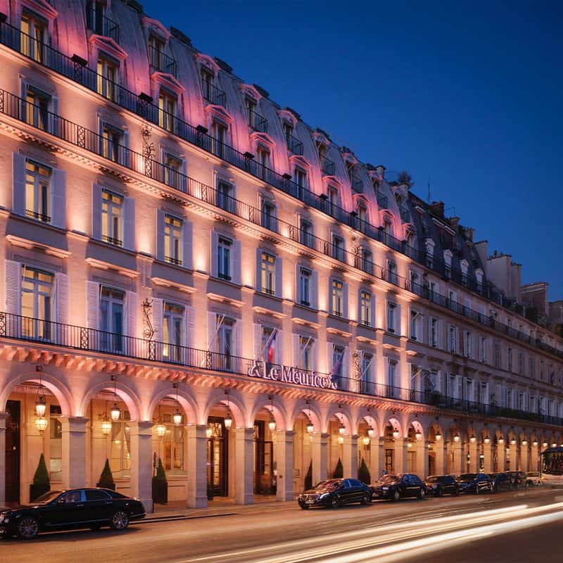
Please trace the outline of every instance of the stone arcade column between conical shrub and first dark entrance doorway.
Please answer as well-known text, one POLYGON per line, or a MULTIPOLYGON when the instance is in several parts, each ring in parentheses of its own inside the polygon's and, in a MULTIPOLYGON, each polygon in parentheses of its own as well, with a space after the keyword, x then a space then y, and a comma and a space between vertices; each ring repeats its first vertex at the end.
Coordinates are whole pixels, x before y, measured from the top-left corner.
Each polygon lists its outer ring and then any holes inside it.
POLYGON ((207 501, 207 425, 190 424, 186 426, 188 496, 187 506, 205 508, 207 501))

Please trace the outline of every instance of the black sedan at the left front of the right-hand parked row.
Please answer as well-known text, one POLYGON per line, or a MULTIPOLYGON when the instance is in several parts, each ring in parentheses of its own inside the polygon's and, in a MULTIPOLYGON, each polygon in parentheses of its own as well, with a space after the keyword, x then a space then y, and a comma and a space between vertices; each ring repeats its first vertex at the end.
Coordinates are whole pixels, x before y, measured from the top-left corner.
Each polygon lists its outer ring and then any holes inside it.
POLYGON ((358 479, 328 479, 317 483, 298 497, 303 510, 322 506, 338 508, 350 502, 367 505, 372 502, 372 488, 358 479))

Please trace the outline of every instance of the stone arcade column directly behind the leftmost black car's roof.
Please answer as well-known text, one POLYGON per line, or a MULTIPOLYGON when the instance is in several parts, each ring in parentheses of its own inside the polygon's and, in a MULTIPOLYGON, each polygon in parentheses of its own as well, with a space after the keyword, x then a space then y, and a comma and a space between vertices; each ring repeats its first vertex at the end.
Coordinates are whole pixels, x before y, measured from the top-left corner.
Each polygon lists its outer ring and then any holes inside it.
POLYGON ((63 417, 62 454, 63 488, 86 486, 86 426, 84 417, 63 417))

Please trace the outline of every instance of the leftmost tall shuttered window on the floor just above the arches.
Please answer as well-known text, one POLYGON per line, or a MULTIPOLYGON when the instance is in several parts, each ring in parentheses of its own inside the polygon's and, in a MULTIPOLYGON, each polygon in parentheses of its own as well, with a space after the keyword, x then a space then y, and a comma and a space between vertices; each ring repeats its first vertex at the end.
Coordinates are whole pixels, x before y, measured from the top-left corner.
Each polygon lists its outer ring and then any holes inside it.
POLYGON ((53 283, 49 272, 22 267, 22 335, 28 338, 51 338, 53 283))

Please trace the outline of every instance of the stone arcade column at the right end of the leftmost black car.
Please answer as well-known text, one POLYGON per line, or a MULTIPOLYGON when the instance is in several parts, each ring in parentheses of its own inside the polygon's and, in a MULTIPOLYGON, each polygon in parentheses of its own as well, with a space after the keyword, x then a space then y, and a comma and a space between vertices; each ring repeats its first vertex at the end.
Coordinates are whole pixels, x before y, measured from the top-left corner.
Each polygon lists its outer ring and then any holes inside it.
POLYGON ((129 422, 131 439, 131 494, 146 512, 153 512, 153 423, 129 422))

